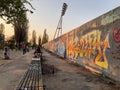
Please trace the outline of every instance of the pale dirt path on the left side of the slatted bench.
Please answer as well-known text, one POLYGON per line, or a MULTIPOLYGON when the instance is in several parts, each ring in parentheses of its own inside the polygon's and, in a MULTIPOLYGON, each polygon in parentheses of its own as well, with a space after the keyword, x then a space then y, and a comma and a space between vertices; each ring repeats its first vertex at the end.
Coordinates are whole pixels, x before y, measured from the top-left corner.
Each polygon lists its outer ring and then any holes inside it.
POLYGON ((0 90, 15 90, 24 75, 33 57, 33 51, 25 55, 21 53, 12 53, 11 60, 0 60, 0 90))

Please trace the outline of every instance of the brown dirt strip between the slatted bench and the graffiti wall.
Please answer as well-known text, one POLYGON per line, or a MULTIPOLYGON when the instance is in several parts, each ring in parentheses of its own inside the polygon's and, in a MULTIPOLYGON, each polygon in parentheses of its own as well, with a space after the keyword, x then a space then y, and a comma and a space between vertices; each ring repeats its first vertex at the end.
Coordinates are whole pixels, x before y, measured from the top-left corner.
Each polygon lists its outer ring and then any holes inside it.
POLYGON ((46 90, 120 90, 83 67, 43 52, 42 72, 46 90))

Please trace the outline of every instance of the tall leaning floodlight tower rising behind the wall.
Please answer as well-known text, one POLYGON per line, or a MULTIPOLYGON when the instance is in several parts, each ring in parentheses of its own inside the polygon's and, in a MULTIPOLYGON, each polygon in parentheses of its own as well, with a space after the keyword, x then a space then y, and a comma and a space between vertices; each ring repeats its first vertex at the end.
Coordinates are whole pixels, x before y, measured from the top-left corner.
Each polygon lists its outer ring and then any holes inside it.
POLYGON ((56 28, 56 31, 55 31, 53 39, 55 39, 55 38, 57 38, 57 37, 62 35, 62 19, 63 19, 62 17, 65 15, 66 9, 67 9, 67 4, 63 3, 60 20, 58 22, 58 25, 57 25, 57 28, 56 28))

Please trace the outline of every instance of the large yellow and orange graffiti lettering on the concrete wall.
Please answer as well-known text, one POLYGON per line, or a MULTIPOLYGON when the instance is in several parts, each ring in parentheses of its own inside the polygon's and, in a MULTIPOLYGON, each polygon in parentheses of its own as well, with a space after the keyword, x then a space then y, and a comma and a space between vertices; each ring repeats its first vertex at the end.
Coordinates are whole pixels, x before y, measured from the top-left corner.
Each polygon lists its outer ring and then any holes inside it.
POLYGON ((68 55, 69 59, 77 59, 87 57, 88 59, 94 59, 94 63, 102 68, 108 68, 108 62, 105 55, 106 49, 110 48, 109 34, 101 40, 101 31, 94 30, 80 39, 77 37, 73 41, 69 41, 68 55), (93 58, 94 57, 94 58, 93 58))

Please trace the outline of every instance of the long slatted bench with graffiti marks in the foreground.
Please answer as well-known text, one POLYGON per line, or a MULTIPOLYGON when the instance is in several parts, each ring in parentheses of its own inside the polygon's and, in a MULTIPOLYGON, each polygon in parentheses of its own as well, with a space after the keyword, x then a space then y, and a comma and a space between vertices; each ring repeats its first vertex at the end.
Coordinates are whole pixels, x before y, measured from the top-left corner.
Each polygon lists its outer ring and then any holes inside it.
POLYGON ((16 90, 43 90, 40 58, 34 58, 16 90))

